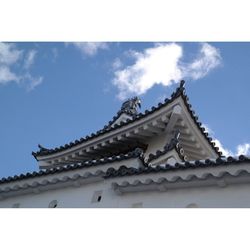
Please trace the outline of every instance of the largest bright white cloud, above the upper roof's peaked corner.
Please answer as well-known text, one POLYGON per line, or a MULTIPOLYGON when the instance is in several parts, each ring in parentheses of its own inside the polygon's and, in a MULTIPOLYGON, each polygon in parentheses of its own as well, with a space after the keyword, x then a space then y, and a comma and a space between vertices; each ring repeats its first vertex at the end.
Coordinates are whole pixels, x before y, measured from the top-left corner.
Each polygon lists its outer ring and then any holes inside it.
POLYGON ((119 89, 119 99, 130 94, 144 94, 155 84, 170 85, 181 79, 178 62, 182 48, 177 44, 158 45, 143 53, 131 51, 136 62, 115 72, 114 85, 119 89))

